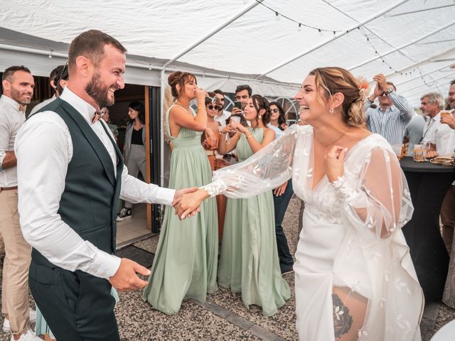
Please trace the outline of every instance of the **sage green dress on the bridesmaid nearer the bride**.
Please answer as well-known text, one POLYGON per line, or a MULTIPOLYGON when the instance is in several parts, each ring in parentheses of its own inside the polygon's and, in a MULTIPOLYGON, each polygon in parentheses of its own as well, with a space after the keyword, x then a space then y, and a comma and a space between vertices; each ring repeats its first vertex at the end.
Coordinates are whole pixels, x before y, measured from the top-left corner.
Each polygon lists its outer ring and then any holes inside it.
MULTIPOLYGON (((250 129, 262 142, 264 129, 250 129)), ((239 161, 252 156, 245 138, 237 143, 239 161)), ((218 284, 242 293, 242 302, 262 307, 262 314, 277 313, 291 297, 279 269, 272 191, 246 199, 228 198, 221 246, 218 284)))

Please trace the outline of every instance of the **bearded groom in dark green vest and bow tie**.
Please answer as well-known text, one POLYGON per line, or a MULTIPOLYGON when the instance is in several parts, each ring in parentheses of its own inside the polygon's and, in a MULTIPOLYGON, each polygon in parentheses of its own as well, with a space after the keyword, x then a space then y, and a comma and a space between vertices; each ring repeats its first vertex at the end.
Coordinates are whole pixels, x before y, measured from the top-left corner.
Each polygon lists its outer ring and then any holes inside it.
POLYGON ((100 31, 77 36, 68 87, 34 114, 16 138, 18 210, 33 247, 29 283, 59 341, 119 340, 112 286, 144 288, 150 271, 114 256, 118 200, 170 205, 186 190, 128 175, 97 109, 124 87, 125 48, 100 31))

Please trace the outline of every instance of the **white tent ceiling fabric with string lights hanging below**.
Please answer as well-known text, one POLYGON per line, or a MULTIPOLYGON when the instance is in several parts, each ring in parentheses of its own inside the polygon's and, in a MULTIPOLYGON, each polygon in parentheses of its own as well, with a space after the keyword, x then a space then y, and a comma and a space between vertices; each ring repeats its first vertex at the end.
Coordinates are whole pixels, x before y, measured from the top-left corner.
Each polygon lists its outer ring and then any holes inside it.
MULTIPOLYGON (((225 80, 212 79, 213 84, 233 86, 241 82, 227 80, 233 72, 254 79, 294 56, 332 40, 269 72, 267 77, 260 77, 259 81, 271 77, 277 82, 294 83, 291 90, 283 87, 277 91, 277 94, 288 94, 294 92, 315 67, 341 66, 368 80, 382 72, 397 84, 399 93, 418 106, 424 92, 436 90, 446 96, 449 81, 455 79, 455 69, 449 68, 455 64, 454 0, 404 1, 361 29, 336 38, 341 31, 400 2, 264 0, 262 4, 297 22, 340 32, 336 35, 319 33, 305 26, 299 31, 297 23, 284 17, 277 20, 273 11, 257 4, 179 58, 180 63, 170 66, 184 67, 182 63, 188 63, 188 67, 198 65, 196 68, 200 70, 213 69, 216 71, 211 72, 226 76, 225 80)), ((78 33, 97 28, 117 38, 129 54, 141 56, 142 59, 137 58, 138 63, 161 66, 254 3, 257 1, 12 0, 0 3, 0 25, 36 37, 37 45, 42 47, 49 46, 45 42, 53 42, 52 48, 63 53, 66 52, 64 46, 68 46, 66 44, 78 33)), ((6 34, 6 31, 0 31, 0 34, 6 34)), ((0 38, 3 42, 6 37, 0 38)), ((21 45, 21 40, 10 44, 21 45)), ((0 62, 4 65, 3 58, 0 62)))

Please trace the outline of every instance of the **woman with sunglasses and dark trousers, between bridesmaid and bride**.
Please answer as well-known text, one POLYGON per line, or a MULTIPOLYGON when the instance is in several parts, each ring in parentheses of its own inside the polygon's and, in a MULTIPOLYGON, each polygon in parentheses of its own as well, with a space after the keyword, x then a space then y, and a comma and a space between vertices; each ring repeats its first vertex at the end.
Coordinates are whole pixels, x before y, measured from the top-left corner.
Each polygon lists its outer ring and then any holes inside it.
MULTIPOLYGON (((279 139, 283 135, 284 130, 287 129, 284 110, 278 102, 270 103, 270 123, 267 126, 275 131, 276 139, 279 139)), ((286 181, 273 190, 275 233, 277 234, 279 269, 282 271, 282 274, 289 274, 289 272, 292 272, 292 266, 294 265, 294 259, 289 251, 286 234, 284 234, 282 227, 284 214, 286 213, 289 201, 291 201, 293 194, 294 191, 292 190, 291 181, 286 181)))

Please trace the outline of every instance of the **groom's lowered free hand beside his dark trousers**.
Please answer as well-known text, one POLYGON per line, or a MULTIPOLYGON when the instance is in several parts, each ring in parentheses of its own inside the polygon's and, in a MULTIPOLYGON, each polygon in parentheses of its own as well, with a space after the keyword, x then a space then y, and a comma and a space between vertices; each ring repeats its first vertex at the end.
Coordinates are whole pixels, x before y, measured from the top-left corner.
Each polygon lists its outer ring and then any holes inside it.
POLYGON ((112 286, 118 291, 129 291, 144 288, 148 282, 141 280, 137 274, 149 276, 151 272, 149 269, 144 268, 144 266, 137 264, 131 259, 122 258, 119 269, 117 269, 114 276, 109 278, 109 283, 111 283, 112 286))

